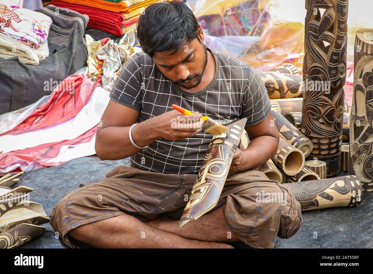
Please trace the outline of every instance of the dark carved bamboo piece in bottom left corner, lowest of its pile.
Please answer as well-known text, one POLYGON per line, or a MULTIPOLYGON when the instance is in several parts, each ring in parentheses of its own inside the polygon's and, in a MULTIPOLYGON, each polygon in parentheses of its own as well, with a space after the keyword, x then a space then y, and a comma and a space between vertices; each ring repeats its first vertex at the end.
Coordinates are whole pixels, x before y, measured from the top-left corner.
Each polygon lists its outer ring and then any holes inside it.
POLYGON ((36 226, 34 224, 19 224, 18 226, 0 233, 0 248, 17 248, 39 237, 45 229, 44 226, 36 226))

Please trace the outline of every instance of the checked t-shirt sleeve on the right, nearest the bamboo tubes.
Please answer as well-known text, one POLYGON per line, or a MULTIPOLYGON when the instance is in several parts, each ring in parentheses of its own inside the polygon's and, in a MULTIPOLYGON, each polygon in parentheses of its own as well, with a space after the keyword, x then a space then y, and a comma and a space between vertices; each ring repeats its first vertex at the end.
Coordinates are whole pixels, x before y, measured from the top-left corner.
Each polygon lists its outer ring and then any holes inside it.
POLYGON ((246 126, 260 123, 271 110, 268 92, 259 73, 250 67, 250 73, 242 96, 241 119, 247 118, 246 126))

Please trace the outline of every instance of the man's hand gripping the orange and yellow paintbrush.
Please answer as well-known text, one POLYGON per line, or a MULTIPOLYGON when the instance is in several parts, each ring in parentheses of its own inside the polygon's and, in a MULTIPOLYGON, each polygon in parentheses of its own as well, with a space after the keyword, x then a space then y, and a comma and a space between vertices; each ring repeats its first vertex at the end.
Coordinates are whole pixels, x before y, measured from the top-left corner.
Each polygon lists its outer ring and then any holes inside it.
MULTIPOLYGON (((192 137, 202 128, 202 114, 182 115, 177 110, 167 111, 148 120, 150 129, 159 138, 180 141, 192 137)), ((136 140, 135 140, 136 141, 136 140)))

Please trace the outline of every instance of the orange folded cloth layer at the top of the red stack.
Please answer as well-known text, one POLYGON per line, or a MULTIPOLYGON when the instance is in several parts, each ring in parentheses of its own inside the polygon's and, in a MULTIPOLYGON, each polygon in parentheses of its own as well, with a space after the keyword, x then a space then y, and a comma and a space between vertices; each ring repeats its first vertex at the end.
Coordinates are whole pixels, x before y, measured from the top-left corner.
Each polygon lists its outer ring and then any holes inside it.
POLYGON ((123 0, 117 3, 105 0, 52 0, 54 2, 65 2, 70 4, 79 4, 98 9, 109 10, 111 12, 131 12, 140 7, 144 7, 156 0, 123 0))

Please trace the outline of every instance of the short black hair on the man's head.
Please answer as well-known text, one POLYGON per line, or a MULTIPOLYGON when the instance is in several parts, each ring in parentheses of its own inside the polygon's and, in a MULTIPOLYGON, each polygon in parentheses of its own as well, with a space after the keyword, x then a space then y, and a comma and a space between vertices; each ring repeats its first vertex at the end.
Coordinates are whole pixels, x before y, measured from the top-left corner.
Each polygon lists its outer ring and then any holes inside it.
POLYGON ((142 50, 153 57, 154 51, 178 50, 198 38, 198 22, 181 1, 150 4, 140 16, 137 37, 142 50))

